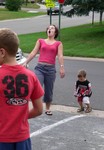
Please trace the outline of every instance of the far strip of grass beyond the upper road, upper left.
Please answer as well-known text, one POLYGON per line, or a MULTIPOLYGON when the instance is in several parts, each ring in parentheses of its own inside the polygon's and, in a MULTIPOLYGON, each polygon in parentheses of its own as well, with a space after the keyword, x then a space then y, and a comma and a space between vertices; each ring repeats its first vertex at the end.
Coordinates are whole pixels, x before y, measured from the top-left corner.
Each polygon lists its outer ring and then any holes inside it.
POLYGON ((0 9, 0 20, 8 20, 8 19, 17 19, 17 18, 28 18, 28 17, 35 17, 39 15, 44 15, 46 13, 44 12, 38 12, 38 13, 28 13, 26 11, 8 11, 5 8, 0 9))

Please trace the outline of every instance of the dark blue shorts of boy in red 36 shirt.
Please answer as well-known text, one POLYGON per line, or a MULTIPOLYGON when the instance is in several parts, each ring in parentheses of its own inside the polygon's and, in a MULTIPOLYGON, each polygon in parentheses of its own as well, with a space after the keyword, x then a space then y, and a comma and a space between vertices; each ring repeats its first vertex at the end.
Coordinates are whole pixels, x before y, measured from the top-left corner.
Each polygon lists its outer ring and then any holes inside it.
POLYGON ((31 149, 31 140, 30 138, 15 143, 2 143, 0 142, 0 150, 32 150, 31 149))

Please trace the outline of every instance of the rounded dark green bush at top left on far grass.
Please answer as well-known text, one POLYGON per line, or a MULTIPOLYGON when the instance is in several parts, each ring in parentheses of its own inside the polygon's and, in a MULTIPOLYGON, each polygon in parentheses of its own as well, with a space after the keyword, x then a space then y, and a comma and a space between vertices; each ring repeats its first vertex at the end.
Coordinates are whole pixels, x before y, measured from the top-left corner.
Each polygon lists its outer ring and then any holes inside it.
POLYGON ((18 11, 21 9, 22 0, 6 0, 5 7, 10 11, 18 11))

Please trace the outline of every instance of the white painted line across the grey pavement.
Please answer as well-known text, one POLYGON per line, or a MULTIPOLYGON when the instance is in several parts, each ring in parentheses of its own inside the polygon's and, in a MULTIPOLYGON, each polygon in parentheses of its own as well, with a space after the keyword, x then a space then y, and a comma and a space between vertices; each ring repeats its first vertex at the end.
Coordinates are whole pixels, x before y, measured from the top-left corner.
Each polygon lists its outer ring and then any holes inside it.
POLYGON ((68 117, 68 118, 66 118, 66 119, 63 119, 63 120, 58 121, 58 122, 56 122, 56 123, 54 123, 54 124, 52 124, 52 125, 46 126, 46 127, 44 127, 44 128, 41 128, 41 129, 39 129, 39 130, 37 130, 37 131, 31 133, 31 134, 30 134, 30 137, 34 137, 34 136, 40 135, 40 134, 42 134, 42 133, 44 133, 44 132, 46 132, 46 131, 51 130, 51 129, 54 128, 54 127, 57 127, 57 126, 59 126, 59 125, 62 125, 62 124, 64 124, 64 123, 67 123, 67 122, 69 122, 69 121, 71 121, 71 120, 75 120, 75 119, 82 118, 82 117, 85 117, 85 116, 86 116, 86 115, 76 115, 76 116, 68 117))

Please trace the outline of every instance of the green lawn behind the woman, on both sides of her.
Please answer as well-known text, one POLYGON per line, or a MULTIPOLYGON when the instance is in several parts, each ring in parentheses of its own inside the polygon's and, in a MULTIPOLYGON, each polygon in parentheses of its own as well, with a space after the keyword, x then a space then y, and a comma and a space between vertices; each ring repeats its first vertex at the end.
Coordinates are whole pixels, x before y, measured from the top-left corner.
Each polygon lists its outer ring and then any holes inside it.
MULTIPOLYGON (((29 53, 38 38, 46 38, 46 33, 19 35, 20 47, 29 53)), ((65 56, 104 58, 104 25, 82 25, 61 29, 61 41, 65 56)))

